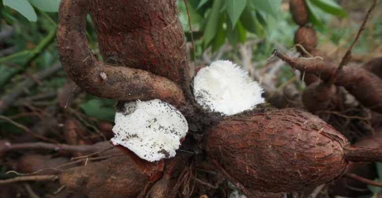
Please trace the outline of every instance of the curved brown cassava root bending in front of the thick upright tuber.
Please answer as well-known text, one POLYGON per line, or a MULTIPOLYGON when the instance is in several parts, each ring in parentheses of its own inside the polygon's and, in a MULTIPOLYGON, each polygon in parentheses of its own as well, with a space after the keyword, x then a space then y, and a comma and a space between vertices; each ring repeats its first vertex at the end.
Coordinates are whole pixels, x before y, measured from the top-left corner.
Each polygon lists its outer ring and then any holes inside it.
MULTIPOLYGON (((60 4, 57 47, 68 76, 86 92, 101 98, 163 99, 176 106, 183 103, 183 92, 175 82, 125 65, 112 66, 96 58, 87 45, 85 35, 89 4, 88 0, 62 0, 60 4)), ((136 46, 130 48, 134 47, 136 46)), ((150 48, 151 45, 147 47, 150 48)), ((171 72, 170 75, 176 74, 171 72)))

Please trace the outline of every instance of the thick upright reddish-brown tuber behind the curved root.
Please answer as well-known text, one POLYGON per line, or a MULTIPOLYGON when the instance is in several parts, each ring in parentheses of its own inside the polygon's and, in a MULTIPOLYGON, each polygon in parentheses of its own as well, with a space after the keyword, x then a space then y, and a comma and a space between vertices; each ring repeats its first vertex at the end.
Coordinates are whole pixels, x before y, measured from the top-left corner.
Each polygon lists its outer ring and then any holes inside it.
POLYGON ((175 0, 90 0, 101 54, 177 83, 189 78, 186 41, 175 0))

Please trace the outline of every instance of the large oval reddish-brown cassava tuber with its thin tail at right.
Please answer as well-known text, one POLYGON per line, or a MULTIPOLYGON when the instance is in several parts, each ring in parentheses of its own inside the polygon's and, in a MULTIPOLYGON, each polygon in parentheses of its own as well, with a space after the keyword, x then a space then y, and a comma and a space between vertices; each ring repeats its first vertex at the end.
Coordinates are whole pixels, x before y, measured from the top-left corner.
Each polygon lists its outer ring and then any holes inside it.
POLYGON ((296 109, 228 117, 204 140, 236 186, 264 192, 314 188, 341 176, 349 161, 382 160, 381 150, 349 147, 323 120, 296 109))

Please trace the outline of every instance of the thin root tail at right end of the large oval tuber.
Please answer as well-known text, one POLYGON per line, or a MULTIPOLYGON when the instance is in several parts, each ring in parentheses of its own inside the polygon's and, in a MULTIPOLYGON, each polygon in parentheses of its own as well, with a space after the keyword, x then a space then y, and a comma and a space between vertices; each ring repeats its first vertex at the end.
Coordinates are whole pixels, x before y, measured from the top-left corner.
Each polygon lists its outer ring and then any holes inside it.
POLYGON ((381 148, 357 148, 348 147, 344 148, 344 155, 348 161, 361 162, 361 161, 380 161, 382 162, 382 149, 381 148))

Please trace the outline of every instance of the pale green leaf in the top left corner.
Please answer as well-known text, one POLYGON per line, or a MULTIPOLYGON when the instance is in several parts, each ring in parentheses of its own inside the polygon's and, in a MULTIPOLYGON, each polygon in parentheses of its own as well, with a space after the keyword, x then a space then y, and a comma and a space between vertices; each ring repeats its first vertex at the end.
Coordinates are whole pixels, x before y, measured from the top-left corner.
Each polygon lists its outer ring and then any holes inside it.
POLYGON ((32 5, 27 0, 3 0, 2 3, 4 6, 8 6, 21 15, 25 16, 29 21, 36 22, 37 15, 32 5))

